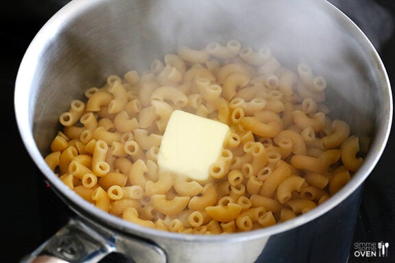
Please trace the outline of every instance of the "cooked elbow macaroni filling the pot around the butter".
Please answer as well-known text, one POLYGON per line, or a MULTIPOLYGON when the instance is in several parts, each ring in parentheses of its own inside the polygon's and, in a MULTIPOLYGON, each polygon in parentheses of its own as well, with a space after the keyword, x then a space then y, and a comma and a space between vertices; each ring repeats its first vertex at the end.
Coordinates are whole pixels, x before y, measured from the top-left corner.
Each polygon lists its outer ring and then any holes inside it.
POLYGON ((269 227, 335 195, 361 166, 359 138, 324 105, 326 80, 270 48, 237 40, 180 47, 139 74, 110 75, 61 114, 45 161, 86 201, 162 231, 223 234, 269 227), (226 123, 206 181, 161 171, 173 110, 226 123))

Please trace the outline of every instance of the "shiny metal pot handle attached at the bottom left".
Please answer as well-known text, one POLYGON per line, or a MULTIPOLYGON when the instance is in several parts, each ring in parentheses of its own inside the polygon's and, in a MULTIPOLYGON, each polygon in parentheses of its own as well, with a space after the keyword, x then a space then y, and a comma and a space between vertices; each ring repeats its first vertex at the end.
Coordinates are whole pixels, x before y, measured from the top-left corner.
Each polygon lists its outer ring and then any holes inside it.
POLYGON ((99 262, 112 252, 124 253, 117 247, 125 247, 128 256, 134 262, 143 262, 149 258, 152 262, 167 262, 162 249, 144 240, 112 236, 111 233, 99 233, 78 219, 71 219, 56 234, 46 240, 35 251, 25 256, 21 263, 68 263, 99 262))

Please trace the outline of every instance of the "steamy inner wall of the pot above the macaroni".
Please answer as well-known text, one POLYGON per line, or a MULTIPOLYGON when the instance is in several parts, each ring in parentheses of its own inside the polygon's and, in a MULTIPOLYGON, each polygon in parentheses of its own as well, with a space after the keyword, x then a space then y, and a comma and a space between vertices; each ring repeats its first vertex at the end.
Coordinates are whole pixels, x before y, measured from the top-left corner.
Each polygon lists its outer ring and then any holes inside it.
POLYGON ((328 82, 333 116, 351 123, 359 136, 372 134, 384 98, 376 92, 379 69, 370 46, 361 44, 357 29, 337 20, 333 8, 316 2, 99 1, 78 12, 70 6, 40 33, 50 40, 32 69, 29 103, 38 149, 48 153, 56 134, 48 127, 58 128, 58 116, 71 100, 83 99, 84 90, 103 85, 108 75, 142 73, 179 45, 201 49, 232 39, 253 49, 270 47, 291 69, 311 66, 328 82))

